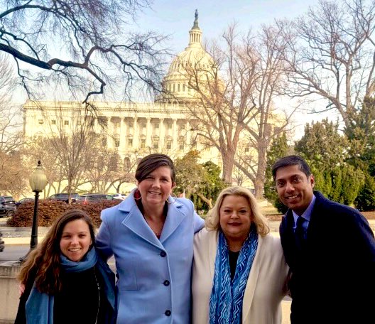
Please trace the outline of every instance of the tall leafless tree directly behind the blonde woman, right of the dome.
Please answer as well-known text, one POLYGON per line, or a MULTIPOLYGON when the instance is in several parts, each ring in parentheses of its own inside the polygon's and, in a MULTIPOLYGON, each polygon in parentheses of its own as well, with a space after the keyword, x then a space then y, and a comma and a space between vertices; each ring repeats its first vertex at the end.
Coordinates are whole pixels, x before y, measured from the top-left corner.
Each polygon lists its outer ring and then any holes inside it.
POLYGON ((235 24, 208 52, 212 65, 203 60, 187 67, 188 86, 195 101, 188 107, 192 129, 200 141, 216 147, 222 156, 223 180, 232 183, 237 166, 249 177, 256 195, 263 193, 266 152, 272 137, 288 124, 278 120, 274 100, 285 85, 280 36, 275 28, 264 27, 259 34, 241 37, 235 24), (256 37, 255 37, 256 36, 256 37), (220 46, 219 41, 224 43, 220 46), (273 127, 277 124, 278 127, 273 127), (256 166, 242 156, 236 158, 241 141, 256 151, 256 166))

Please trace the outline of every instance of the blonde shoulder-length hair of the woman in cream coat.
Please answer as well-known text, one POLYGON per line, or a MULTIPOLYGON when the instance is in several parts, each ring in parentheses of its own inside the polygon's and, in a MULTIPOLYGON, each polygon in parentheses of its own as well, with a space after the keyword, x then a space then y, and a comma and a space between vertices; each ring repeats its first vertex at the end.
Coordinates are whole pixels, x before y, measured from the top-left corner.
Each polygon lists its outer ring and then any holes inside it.
POLYGON ((220 229, 219 210, 220 207, 222 207, 224 198, 228 195, 244 197, 249 202, 251 210, 251 223, 256 225, 256 232, 258 232, 261 237, 265 237, 266 234, 270 232, 268 220, 262 215, 261 211, 259 210, 258 202, 250 190, 239 186, 224 188, 222 192, 219 193, 214 207, 212 207, 212 209, 207 213, 205 220, 206 229, 209 231, 220 229))

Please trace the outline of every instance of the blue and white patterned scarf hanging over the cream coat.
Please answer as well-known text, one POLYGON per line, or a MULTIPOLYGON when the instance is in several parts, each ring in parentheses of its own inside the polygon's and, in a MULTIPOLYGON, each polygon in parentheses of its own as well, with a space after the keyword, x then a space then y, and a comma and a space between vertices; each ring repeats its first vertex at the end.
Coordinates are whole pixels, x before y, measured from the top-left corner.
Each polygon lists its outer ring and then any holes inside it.
POLYGON ((256 227, 242 245, 237 259, 236 273, 231 280, 227 240, 219 231, 217 254, 214 264, 214 282, 210 298, 210 324, 240 324, 242 301, 251 265, 258 247, 256 227))

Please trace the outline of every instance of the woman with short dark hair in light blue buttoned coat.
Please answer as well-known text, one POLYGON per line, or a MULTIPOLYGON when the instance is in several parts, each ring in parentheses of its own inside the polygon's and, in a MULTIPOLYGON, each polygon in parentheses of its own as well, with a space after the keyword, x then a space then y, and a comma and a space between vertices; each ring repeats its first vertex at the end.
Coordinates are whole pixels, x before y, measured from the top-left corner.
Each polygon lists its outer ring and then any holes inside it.
POLYGON ((116 260, 117 323, 190 323, 193 237, 204 221, 190 200, 170 196, 168 156, 144 157, 136 180, 126 200, 102 211, 96 239, 116 260))

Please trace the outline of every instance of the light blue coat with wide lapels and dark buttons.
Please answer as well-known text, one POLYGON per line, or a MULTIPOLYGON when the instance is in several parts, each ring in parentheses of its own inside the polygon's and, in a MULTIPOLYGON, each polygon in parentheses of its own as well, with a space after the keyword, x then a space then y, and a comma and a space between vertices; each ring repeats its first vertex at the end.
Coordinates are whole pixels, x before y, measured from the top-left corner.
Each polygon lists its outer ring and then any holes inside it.
POLYGON ((117 270, 117 323, 190 323, 192 249, 204 226, 192 202, 168 198, 160 240, 148 227, 131 193, 102 211, 97 248, 114 254, 117 270))

